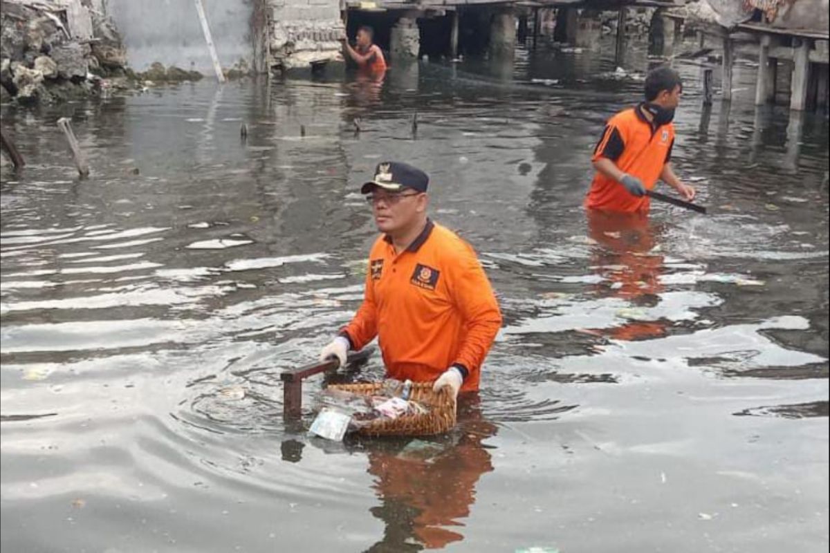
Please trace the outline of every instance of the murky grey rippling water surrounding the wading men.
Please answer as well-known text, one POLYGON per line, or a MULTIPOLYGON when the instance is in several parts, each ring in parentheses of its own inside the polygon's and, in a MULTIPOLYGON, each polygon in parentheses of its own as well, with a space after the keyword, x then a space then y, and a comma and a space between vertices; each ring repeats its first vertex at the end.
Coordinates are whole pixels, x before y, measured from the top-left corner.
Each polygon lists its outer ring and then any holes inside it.
POLYGON ((823 551, 828 122, 701 109, 679 68, 706 217, 583 211, 642 87, 598 52, 4 106, 28 165, 0 180, 2 546, 823 551), (311 379, 300 424, 279 374, 359 305, 382 158, 430 173, 505 327, 454 432, 332 444, 305 432, 315 390, 378 359, 311 379))

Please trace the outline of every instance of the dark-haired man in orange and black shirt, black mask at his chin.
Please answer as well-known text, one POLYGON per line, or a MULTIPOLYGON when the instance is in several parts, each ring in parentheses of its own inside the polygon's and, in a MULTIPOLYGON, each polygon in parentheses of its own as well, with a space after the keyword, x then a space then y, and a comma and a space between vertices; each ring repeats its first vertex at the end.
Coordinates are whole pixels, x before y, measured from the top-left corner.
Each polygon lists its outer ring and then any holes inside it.
POLYGON ((671 168, 675 130, 671 120, 683 91, 680 75, 658 67, 646 76, 646 101, 608 120, 593 152, 597 170, 585 206, 601 211, 648 211, 647 190, 659 178, 686 200, 696 191, 683 184, 671 168))

